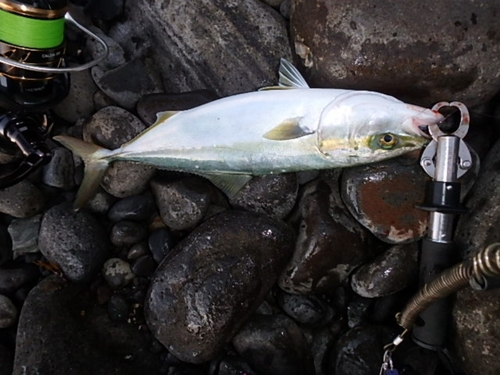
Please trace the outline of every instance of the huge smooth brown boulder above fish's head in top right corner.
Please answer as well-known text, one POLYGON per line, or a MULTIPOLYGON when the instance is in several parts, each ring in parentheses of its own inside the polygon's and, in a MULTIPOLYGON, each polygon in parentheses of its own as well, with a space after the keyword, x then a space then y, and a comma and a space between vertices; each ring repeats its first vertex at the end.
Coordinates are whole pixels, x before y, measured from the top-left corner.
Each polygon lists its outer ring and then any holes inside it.
POLYGON ((474 106, 495 95, 498 2, 413 5, 294 0, 292 41, 311 86, 381 91, 424 106, 443 98, 474 106))

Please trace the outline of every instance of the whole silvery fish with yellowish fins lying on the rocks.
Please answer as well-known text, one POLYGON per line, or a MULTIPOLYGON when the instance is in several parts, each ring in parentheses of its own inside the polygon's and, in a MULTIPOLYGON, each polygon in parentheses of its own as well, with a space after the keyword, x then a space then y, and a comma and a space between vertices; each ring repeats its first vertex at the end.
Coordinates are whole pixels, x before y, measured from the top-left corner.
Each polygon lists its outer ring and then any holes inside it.
POLYGON ((229 197, 254 176, 344 168, 419 149, 438 111, 373 91, 310 88, 281 59, 277 86, 185 111, 165 111, 115 150, 67 135, 53 139, 83 159, 79 209, 114 161, 132 161, 208 178, 229 197))

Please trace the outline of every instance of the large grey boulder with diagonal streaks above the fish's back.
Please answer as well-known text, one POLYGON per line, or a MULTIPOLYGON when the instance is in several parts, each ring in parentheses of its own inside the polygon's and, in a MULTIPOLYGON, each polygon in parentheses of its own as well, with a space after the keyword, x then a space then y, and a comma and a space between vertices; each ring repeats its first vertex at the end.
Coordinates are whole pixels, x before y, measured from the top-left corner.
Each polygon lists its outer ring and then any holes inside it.
POLYGON ((255 90, 275 84, 279 59, 291 57, 283 18, 258 0, 140 0, 125 6, 129 17, 109 35, 131 56, 149 48, 171 92, 211 88, 227 96, 255 90))

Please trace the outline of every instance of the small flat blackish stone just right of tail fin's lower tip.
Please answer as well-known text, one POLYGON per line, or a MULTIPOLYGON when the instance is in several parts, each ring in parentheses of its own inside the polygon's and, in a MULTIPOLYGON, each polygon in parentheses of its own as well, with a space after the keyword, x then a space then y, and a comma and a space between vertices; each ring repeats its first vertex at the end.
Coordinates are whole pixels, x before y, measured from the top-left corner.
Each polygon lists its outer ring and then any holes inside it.
POLYGON ((143 194, 120 199, 108 212, 108 218, 116 223, 122 220, 148 221, 156 213, 151 195, 143 194))

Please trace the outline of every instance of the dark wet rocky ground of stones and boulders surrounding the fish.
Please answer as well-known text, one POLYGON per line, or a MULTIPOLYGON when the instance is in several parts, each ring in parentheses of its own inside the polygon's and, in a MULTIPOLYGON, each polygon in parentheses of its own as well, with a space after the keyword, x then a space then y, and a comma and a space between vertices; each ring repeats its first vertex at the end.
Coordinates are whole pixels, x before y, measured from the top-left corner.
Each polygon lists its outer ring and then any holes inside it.
MULTIPOLYGON (((54 134, 118 147, 159 111, 275 84, 284 57, 314 87, 464 102, 476 162, 456 242, 465 257, 500 242, 498 2, 75 0, 71 12, 110 56, 72 75, 54 134)), ((75 213, 82 162, 47 143, 50 164, 0 190, 0 374, 378 373, 417 289, 418 153, 259 177, 230 200, 200 177, 115 163, 75 213)), ((447 354, 466 374, 500 369, 498 293, 456 296, 447 354)), ((454 373, 411 340, 394 361, 454 373)))

